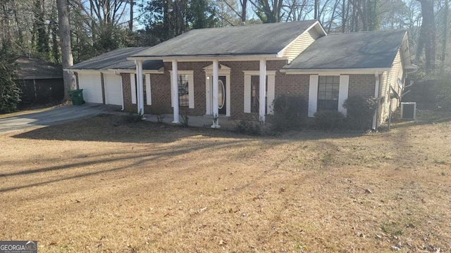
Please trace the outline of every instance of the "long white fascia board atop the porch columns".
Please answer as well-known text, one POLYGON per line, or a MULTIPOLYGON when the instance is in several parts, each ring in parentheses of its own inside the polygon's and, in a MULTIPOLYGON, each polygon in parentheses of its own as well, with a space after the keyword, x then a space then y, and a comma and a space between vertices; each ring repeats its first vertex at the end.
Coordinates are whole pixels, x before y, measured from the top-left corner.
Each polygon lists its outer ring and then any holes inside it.
POLYGON ((163 60, 163 62, 172 62, 177 60, 178 62, 199 62, 199 61, 213 61, 214 59, 220 61, 247 61, 247 60, 284 60, 285 57, 280 57, 277 54, 267 55, 240 55, 240 56, 137 56, 129 57, 127 60, 163 60))

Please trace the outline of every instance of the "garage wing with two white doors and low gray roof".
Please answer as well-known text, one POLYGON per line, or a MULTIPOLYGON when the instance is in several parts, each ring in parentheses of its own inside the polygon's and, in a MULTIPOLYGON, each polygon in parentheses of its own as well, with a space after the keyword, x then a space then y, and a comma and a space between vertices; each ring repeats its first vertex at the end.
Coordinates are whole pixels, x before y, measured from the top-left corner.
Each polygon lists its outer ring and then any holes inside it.
MULTIPOLYGON (((83 90, 83 99, 87 103, 122 105, 124 109, 123 89, 128 91, 128 97, 131 98, 131 93, 134 93, 136 98, 136 91, 130 90, 130 84, 136 82, 136 65, 127 58, 146 48, 118 48, 68 68, 69 71, 75 73, 77 89, 83 90), (123 80, 127 87, 123 87, 123 80)), ((142 69, 144 76, 147 76, 149 80, 150 73, 163 74, 163 61, 144 61, 142 69)), ((143 93, 146 93, 145 89, 143 93)), ((149 92, 148 96, 150 94, 149 92)), ((149 98, 150 100, 151 98, 149 98)), ((128 101, 132 103, 132 100, 128 99, 128 101)))

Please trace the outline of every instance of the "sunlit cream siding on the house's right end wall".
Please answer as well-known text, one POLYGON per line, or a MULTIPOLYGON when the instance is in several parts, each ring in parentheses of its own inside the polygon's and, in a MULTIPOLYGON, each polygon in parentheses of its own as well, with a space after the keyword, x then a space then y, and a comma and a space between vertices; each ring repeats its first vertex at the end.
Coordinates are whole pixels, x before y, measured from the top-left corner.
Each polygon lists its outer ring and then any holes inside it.
MULTIPOLYGON (((381 75, 380 79, 380 92, 381 98, 383 98, 383 103, 381 104, 379 124, 383 124, 386 119, 388 119, 389 115, 389 107, 390 107, 390 85, 393 86, 395 91, 401 95, 401 89, 397 85, 397 79, 402 79, 404 74, 404 69, 402 66, 401 53, 397 52, 395 60, 393 60, 393 65, 390 71, 384 72, 381 75)), ((399 100, 393 98, 392 101, 392 112, 396 110, 398 106, 399 100)))

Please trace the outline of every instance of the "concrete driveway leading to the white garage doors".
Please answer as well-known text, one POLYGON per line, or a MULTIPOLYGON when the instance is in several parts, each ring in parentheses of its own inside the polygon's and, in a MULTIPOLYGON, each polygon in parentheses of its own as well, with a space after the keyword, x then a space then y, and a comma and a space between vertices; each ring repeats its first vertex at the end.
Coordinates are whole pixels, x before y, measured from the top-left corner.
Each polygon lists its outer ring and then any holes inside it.
POLYGON ((28 115, 20 115, 16 117, 8 117, 0 119, 0 133, 8 131, 17 131, 28 128, 36 128, 43 126, 51 126, 70 122, 83 117, 92 117, 99 113, 107 113, 120 111, 121 106, 118 105, 68 105, 60 108, 54 108, 45 112, 36 112, 28 115))

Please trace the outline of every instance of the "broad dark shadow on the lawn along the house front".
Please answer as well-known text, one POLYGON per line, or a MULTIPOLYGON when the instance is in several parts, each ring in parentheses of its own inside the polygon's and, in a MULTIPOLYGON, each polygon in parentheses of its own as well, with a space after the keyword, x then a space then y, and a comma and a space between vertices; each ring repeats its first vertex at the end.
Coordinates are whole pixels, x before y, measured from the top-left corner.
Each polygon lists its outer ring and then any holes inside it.
POLYGON ((362 136, 360 131, 292 131, 276 136, 247 136, 209 128, 184 128, 154 122, 127 122, 118 115, 97 115, 75 122, 47 126, 13 138, 56 141, 106 141, 118 143, 172 143, 192 136, 236 138, 240 140, 311 141, 326 138, 354 138, 362 136))

